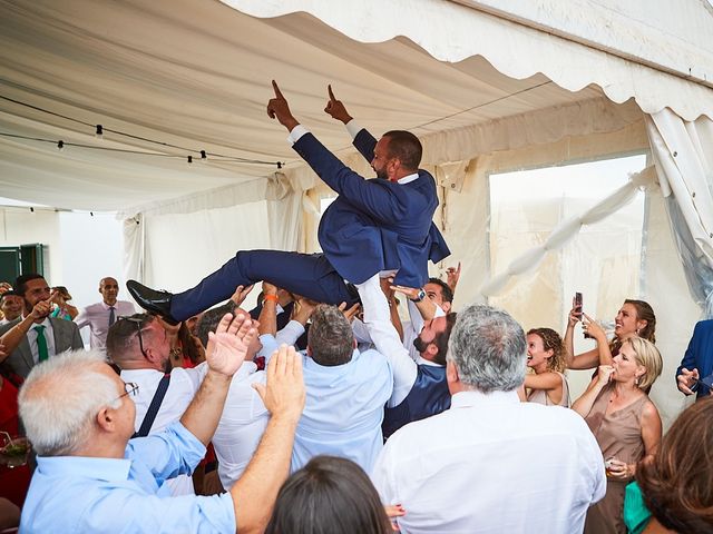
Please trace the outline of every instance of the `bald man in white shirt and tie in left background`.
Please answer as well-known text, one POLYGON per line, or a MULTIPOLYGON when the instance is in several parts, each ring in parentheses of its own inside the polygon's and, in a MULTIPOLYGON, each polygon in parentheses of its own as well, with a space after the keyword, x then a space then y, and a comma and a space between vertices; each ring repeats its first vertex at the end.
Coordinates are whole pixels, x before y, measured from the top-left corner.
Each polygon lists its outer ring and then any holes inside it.
POLYGON ((79 328, 89 327, 89 346, 98 350, 106 350, 107 333, 109 327, 121 316, 136 313, 134 305, 127 300, 117 300, 119 284, 115 278, 107 276, 99 280, 101 301, 84 308, 75 318, 79 328))

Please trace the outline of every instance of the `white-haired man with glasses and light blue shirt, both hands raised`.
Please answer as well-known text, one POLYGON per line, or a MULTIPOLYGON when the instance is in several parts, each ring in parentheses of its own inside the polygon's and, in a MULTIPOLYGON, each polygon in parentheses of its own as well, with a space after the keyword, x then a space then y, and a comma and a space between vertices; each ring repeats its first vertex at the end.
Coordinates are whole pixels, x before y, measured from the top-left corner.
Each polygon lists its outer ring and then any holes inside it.
MULTIPOLYGON (((270 423, 245 475, 231 492, 172 497, 164 482, 191 473, 218 424, 231 377, 256 332, 226 315, 211 336, 208 369, 179 422, 129 441, 133 394, 97 352, 75 352, 35 368, 20 393, 20 414, 38 468, 20 530, 35 532, 262 532, 287 475, 304 406, 301 358, 281 347, 256 386, 270 423)), ((146 342, 146 339, 144 339, 146 342)), ((146 344, 148 345, 148 344, 146 344)), ((147 354, 147 346, 144 349, 147 354)))

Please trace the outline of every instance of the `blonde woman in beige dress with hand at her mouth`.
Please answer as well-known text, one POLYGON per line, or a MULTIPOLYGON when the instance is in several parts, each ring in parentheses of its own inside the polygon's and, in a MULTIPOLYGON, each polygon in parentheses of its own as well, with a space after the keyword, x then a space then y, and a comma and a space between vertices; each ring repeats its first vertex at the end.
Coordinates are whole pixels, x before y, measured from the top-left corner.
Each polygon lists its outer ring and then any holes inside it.
POLYGON ((624 488, 634 477, 636 464, 652 457, 661 442, 661 417, 644 392, 662 368, 655 345, 631 337, 612 365, 599 366, 587 390, 572 406, 594 433, 607 469, 606 495, 589 508, 585 534, 626 534, 624 488))

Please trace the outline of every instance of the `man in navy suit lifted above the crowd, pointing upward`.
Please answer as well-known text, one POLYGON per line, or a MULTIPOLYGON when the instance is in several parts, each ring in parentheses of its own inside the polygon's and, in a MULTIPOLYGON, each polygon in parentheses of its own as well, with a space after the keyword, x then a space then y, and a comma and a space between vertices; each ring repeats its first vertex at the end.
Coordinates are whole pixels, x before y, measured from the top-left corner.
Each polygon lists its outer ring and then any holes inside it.
MULTIPOLYGON (((273 88, 275 98, 267 103, 267 115, 290 131, 294 150, 339 194, 320 221, 318 237, 324 253, 238 251, 197 286, 176 295, 129 280, 129 293, 145 309, 179 322, 227 299, 237 285, 260 280, 316 301, 352 304, 358 295, 345 280, 381 291, 379 273, 395 270, 394 284, 422 287, 428 260, 437 263, 450 254, 432 222, 438 206, 436 181, 418 168, 421 144, 416 136, 393 130, 377 141, 360 129, 354 146, 377 172, 375 179, 365 180, 300 125, 274 81, 273 88)), ((329 92, 325 111, 349 129, 351 117, 331 88, 329 92)))

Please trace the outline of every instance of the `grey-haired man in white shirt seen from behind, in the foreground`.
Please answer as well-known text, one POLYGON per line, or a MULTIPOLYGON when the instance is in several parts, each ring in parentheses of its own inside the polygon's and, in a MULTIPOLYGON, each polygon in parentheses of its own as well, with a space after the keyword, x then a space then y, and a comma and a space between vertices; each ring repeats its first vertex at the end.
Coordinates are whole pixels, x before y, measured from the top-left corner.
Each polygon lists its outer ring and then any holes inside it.
POLYGON ((489 306, 458 314, 450 336, 450 409, 387 442, 372 472, 384 504, 401 504, 401 532, 582 532, 606 492, 599 447, 584 419, 520 403, 520 325, 489 306))

